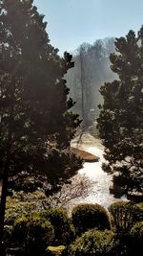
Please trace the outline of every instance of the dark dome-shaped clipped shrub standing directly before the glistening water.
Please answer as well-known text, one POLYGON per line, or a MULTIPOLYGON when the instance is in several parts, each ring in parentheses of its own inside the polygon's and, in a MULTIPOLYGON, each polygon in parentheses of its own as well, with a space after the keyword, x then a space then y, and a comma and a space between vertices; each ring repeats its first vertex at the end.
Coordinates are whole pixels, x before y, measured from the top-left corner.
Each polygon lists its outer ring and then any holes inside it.
POLYGON ((79 204, 72 210, 72 222, 76 234, 81 234, 89 229, 110 229, 110 221, 104 207, 98 204, 79 204))

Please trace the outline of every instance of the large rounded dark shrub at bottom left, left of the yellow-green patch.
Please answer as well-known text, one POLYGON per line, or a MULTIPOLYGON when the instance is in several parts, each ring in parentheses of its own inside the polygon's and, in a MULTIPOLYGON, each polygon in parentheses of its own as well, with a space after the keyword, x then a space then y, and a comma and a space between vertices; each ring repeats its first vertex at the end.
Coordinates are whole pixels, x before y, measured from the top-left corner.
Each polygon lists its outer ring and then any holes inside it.
POLYGON ((54 229, 50 221, 37 216, 20 218, 14 222, 13 237, 15 245, 21 246, 24 255, 44 255, 54 238, 54 229))

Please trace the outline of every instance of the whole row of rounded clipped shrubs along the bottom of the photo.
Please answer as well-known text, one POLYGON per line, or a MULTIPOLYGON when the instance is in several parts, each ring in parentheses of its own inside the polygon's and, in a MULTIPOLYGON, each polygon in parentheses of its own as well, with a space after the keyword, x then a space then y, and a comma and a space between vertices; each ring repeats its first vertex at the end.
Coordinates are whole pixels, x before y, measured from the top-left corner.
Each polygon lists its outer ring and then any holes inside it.
POLYGON ((98 204, 79 204, 71 218, 65 209, 24 212, 17 220, 6 219, 4 244, 8 250, 19 248, 20 256, 131 256, 136 251, 139 256, 143 203, 118 201, 109 212, 98 204))

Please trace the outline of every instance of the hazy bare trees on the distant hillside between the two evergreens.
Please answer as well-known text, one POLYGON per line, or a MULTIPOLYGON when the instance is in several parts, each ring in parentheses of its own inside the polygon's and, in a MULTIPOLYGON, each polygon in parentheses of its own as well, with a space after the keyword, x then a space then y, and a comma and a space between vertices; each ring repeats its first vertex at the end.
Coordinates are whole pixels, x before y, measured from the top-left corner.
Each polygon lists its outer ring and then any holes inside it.
POLYGON ((74 68, 66 75, 74 111, 83 119, 83 126, 92 125, 98 117, 98 105, 103 101, 99 93, 101 84, 112 81, 110 54, 115 51, 114 38, 98 39, 92 45, 81 44, 73 55, 74 68))

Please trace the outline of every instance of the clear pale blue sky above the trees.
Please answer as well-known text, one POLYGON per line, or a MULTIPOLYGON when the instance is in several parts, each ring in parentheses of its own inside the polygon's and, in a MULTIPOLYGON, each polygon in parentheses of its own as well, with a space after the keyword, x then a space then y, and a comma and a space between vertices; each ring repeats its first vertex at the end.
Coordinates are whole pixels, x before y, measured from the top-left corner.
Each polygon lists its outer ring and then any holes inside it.
POLYGON ((51 45, 73 51, 83 42, 127 35, 143 25, 143 0, 33 0, 45 14, 51 45))

